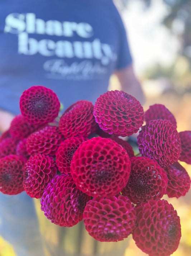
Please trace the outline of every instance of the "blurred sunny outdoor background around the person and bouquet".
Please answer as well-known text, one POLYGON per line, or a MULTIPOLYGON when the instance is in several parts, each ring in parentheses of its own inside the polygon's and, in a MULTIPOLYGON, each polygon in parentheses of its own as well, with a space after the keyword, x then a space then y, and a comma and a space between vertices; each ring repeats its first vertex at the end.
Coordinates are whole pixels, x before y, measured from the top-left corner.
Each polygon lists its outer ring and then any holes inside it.
MULTIPOLYGON (((149 105, 164 104, 177 120, 177 130, 191 130, 191 1, 115 0, 128 31, 136 74, 149 105)), ((119 88, 116 77, 110 89, 119 88)), ((181 163, 191 176, 191 165, 181 163)), ((191 255, 191 191, 182 198, 164 197, 181 219, 182 238, 173 256, 191 255)), ((125 256, 146 255, 126 239, 125 256)), ((108 245, 109 246, 109 245, 108 245)), ((0 256, 15 256, 0 238, 0 256)), ((120 256, 120 255, 119 255, 120 256)))

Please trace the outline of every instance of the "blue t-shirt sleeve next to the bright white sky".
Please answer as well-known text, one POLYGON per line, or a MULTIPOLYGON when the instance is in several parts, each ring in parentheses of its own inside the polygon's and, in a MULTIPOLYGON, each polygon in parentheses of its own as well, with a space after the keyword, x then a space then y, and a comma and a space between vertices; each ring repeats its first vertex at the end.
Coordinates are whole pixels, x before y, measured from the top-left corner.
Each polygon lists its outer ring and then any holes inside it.
MULTIPOLYGON (((113 2, 113 1, 112 1, 113 2)), ((122 69, 128 67, 132 64, 132 55, 129 49, 128 38, 126 35, 126 30, 121 19, 121 16, 113 3, 113 10, 115 14, 115 23, 118 26, 119 31, 119 44, 118 44, 118 53, 115 69, 122 69)))

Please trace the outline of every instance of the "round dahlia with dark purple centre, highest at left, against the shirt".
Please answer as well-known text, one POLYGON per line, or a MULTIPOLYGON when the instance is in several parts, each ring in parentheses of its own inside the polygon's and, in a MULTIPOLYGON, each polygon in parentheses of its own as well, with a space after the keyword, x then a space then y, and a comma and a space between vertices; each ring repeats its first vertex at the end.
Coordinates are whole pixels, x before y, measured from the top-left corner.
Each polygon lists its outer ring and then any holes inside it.
POLYGON ((52 122, 58 116, 59 109, 57 95, 44 86, 32 86, 20 97, 20 111, 33 124, 52 122))

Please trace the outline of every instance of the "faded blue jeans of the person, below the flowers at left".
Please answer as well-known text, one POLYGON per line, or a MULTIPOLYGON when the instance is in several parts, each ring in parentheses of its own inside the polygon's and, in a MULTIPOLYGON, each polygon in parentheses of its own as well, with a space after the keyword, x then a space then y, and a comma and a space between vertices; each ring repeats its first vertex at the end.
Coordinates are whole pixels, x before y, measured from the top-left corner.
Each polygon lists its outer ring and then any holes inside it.
POLYGON ((25 191, 13 196, 0 192, 0 235, 18 256, 44 256, 34 202, 25 191))

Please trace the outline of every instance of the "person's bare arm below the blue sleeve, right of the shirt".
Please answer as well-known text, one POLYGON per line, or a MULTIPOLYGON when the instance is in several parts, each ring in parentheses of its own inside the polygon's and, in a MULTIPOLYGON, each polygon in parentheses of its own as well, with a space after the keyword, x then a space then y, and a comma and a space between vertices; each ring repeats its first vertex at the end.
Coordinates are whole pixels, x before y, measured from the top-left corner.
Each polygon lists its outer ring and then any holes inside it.
POLYGON ((114 74, 119 79, 121 90, 134 96, 140 102, 140 104, 143 105, 145 103, 145 95, 140 82, 135 76, 132 64, 130 64, 128 67, 115 71, 114 74))

